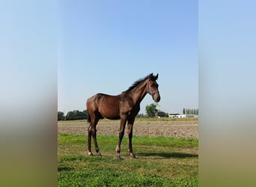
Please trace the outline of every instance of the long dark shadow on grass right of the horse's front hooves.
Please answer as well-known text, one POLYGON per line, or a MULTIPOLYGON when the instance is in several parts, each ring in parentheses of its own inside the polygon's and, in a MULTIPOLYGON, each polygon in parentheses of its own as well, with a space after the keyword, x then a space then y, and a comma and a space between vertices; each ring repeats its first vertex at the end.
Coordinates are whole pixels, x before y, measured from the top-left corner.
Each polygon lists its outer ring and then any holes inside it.
POLYGON ((160 156, 164 158, 176 158, 176 159, 185 159, 185 158, 198 158, 198 154, 191 153, 138 153, 138 156, 160 156))

